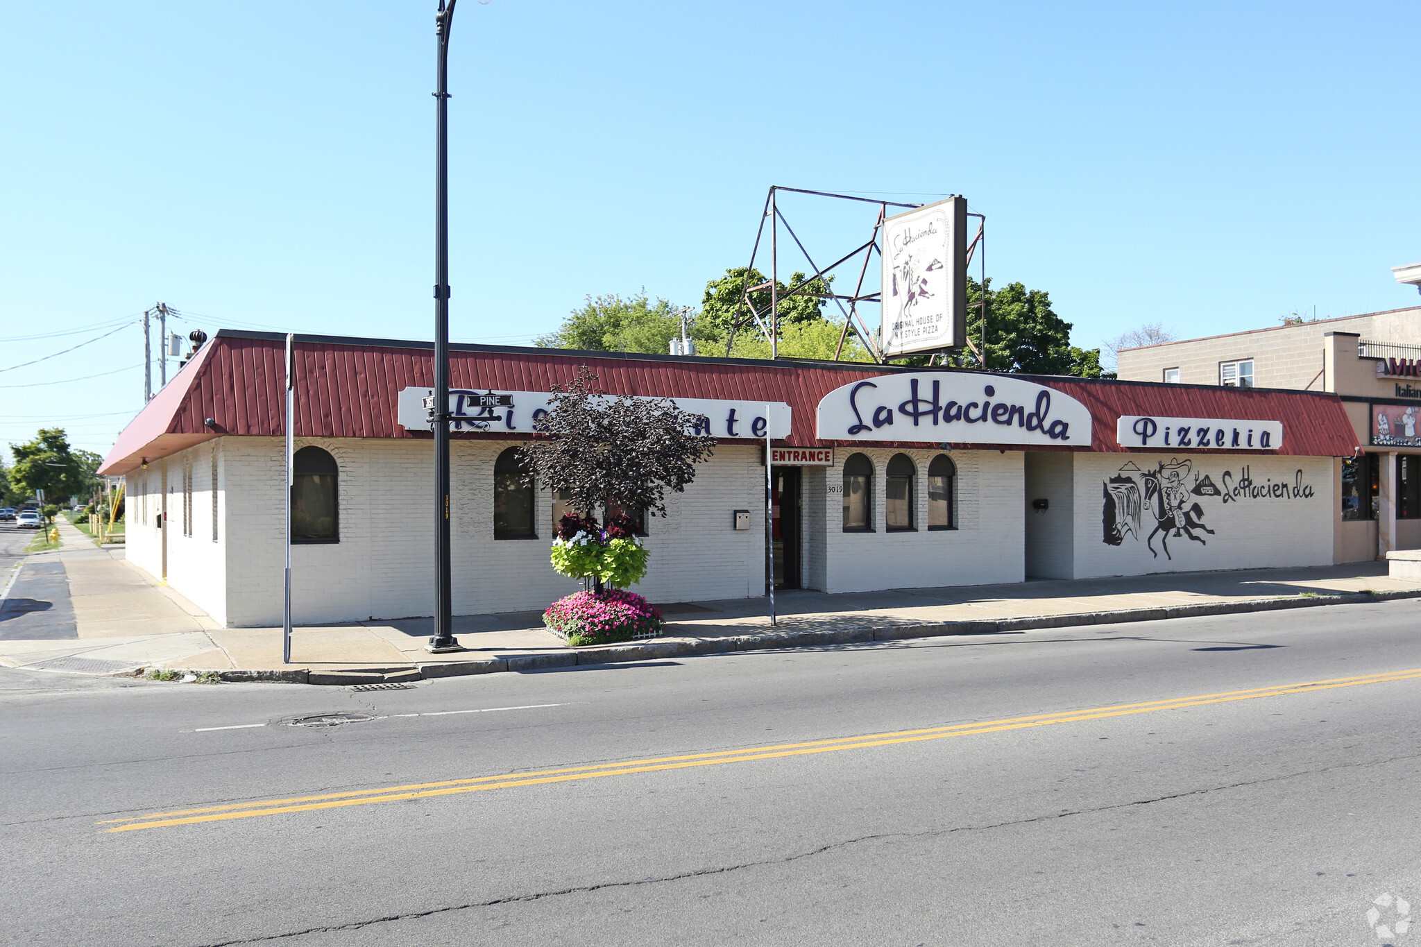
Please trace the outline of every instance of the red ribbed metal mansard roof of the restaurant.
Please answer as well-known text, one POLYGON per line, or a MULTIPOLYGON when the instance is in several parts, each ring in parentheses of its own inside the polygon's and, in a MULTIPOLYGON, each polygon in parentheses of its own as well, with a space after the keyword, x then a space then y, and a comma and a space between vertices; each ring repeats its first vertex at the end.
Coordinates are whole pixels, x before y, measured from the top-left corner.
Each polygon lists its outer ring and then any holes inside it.
MULTIPOLYGON (((128 473, 145 459, 165 457, 225 434, 284 434, 284 359, 283 335, 227 329, 217 332, 124 429, 104 460, 101 473, 128 473), (213 420, 210 426, 206 423, 209 417, 213 420)), ((449 382, 452 388, 546 392, 554 382, 568 382, 578 365, 594 371, 601 386, 611 393, 786 402, 793 407, 793 436, 784 443, 801 446, 855 443, 818 442, 814 437, 816 409, 820 399, 833 389, 885 372, 925 371, 833 362, 460 345, 450 346, 449 382)), ((298 335, 296 369, 297 436, 429 437, 428 432, 409 433, 396 422, 399 390, 433 385, 433 348, 428 342, 298 335)), ((1120 415, 1283 419, 1287 423, 1283 449, 1269 453, 1341 457, 1358 450, 1351 423, 1336 395, 1059 376, 1022 378, 1061 390, 1090 409, 1094 416, 1090 450, 1131 451, 1115 443, 1115 420, 1120 415)), ((516 437, 507 433, 460 436, 503 440, 516 437)), ((874 446, 890 444, 875 442, 874 446)))

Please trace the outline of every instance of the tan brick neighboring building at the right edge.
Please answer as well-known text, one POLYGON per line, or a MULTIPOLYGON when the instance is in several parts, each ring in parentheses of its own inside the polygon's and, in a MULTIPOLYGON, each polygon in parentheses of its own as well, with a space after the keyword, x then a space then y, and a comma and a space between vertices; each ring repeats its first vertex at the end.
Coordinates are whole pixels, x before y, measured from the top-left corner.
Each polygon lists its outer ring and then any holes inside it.
POLYGON ((1333 561, 1421 548, 1421 307, 1121 349, 1118 376, 1337 393, 1368 450, 1337 461, 1333 561))

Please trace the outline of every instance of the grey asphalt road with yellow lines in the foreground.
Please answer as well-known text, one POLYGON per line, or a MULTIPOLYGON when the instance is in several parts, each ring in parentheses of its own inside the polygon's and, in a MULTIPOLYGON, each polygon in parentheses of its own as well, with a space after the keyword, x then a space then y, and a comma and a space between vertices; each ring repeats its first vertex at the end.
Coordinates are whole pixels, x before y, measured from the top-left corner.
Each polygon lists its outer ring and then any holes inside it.
POLYGON ((0 672, 0 941, 1421 943, 1367 917, 1421 920, 1418 710, 1415 601, 375 693, 0 672))

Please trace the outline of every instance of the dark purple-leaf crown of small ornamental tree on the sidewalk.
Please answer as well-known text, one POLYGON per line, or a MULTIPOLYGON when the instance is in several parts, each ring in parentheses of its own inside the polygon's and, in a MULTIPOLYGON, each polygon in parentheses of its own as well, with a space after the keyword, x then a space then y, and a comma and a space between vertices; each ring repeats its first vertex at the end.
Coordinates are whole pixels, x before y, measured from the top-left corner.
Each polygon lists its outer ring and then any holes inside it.
POLYGON ((551 392, 547 415, 519 453, 584 514, 617 508, 665 517, 666 491, 682 493, 715 446, 715 437, 693 433, 699 416, 665 398, 607 395, 585 365, 551 392))

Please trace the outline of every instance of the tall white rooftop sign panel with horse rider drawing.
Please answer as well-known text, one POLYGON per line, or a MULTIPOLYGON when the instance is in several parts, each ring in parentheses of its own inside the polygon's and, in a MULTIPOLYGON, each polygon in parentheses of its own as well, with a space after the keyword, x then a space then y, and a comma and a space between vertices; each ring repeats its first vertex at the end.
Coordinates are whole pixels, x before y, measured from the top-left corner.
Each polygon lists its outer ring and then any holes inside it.
POLYGON ((968 199, 884 220, 882 348, 907 355, 962 348, 968 335, 968 199))

